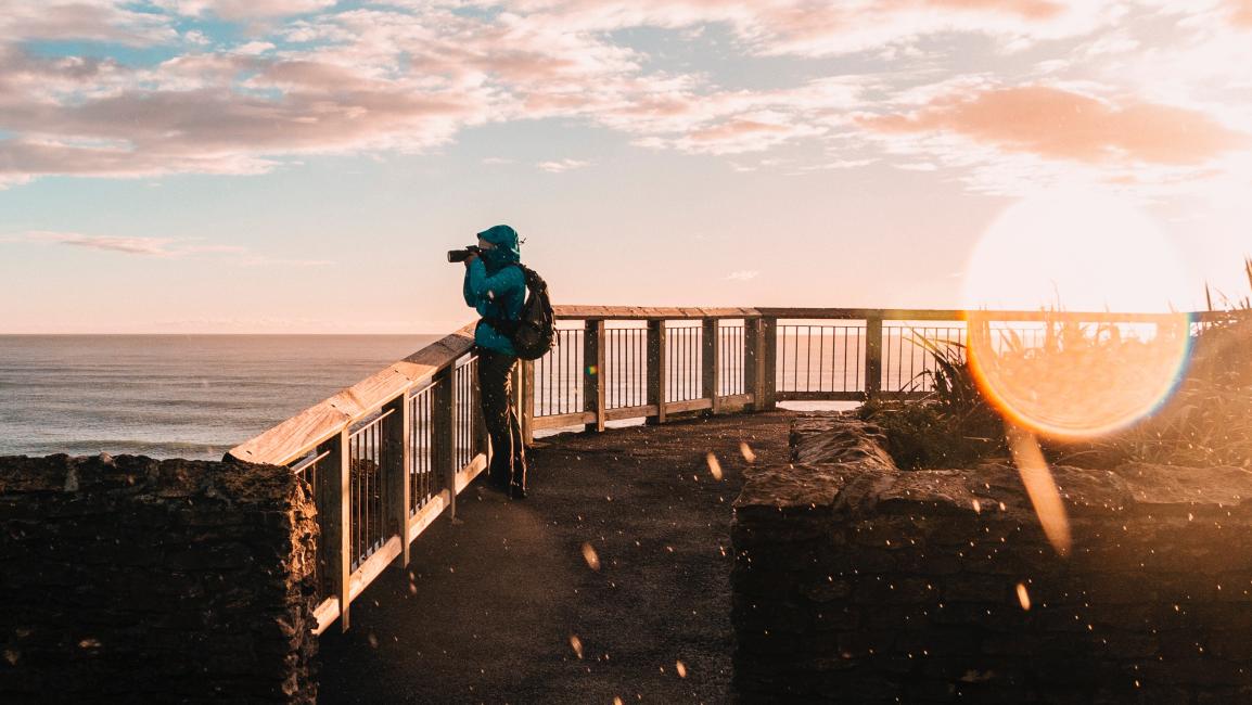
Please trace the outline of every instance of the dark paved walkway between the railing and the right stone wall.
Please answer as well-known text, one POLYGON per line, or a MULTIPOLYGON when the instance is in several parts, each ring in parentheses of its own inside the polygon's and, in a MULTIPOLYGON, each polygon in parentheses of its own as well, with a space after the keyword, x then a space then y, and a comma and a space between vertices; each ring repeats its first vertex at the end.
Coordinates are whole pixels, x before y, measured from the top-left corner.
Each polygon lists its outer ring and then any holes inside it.
POLYGON ((407 571, 388 571, 353 602, 352 630, 323 636, 321 701, 727 701, 740 442, 756 462, 785 462, 789 419, 541 441, 528 500, 470 487, 456 523, 439 520, 413 543, 407 571))

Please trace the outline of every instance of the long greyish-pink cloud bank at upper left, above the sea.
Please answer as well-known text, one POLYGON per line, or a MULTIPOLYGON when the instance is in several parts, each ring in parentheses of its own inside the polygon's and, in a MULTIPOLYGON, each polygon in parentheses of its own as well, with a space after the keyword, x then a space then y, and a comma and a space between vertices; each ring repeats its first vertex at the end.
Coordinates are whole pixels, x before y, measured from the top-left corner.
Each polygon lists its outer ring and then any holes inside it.
MULTIPOLYGON (((451 139, 487 110, 475 91, 423 90, 408 80, 378 80, 316 61, 222 55, 179 58, 151 78, 134 76, 131 85, 100 95, 43 95, 36 79, 79 70, 91 75, 99 66, 31 63, 14 85, 15 95, 0 90, 0 128, 23 135, 0 140, 0 174, 6 180, 33 174, 258 173, 275 164, 273 155, 416 152, 451 139), (247 84, 237 83, 245 73, 252 73, 247 84), (272 88, 282 93, 254 93, 272 88)), ((5 80, 0 78, 0 89, 5 80)))

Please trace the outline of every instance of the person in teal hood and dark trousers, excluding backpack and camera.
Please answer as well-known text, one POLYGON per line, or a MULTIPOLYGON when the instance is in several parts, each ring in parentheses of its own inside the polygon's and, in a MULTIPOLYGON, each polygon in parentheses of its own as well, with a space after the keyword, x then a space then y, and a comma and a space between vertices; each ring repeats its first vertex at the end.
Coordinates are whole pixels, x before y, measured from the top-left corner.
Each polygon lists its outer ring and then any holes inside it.
POLYGON ((482 414, 491 435, 488 482, 515 500, 526 497, 526 450, 522 427, 513 408, 512 373, 517 367, 513 343, 501 328, 521 317, 526 302, 526 277, 517 232, 496 225, 478 233, 482 255, 466 259, 464 297, 482 319, 475 329, 478 354, 478 388, 482 389, 482 414))

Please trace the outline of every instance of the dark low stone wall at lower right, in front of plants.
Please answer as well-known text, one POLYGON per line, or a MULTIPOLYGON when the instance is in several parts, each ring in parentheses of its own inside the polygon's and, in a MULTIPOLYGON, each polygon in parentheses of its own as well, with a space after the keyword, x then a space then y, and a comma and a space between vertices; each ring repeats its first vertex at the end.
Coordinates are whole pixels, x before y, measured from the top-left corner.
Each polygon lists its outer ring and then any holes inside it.
POLYGON ((1068 557, 1009 467, 899 472, 860 453, 751 472, 732 530, 737 699, 1252 702, 1252 475, 1053 471, 1068 557))

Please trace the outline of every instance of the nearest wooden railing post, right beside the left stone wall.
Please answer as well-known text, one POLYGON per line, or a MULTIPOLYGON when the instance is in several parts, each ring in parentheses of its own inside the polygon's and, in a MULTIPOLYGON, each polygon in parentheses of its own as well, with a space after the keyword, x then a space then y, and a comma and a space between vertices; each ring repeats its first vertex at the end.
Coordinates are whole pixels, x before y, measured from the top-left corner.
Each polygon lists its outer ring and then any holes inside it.
POLYGON ((348 600, 352 586, 352 450, 348 428, 318 446, 318 452, 329 453, 318 468, 318 492, 326 497, 322 505, 326 516, 322 525, 323 555, 327 560, 326 575, 331 590, 339 597, 339 626, 348 631, 348 600), (324 468, 324 472, 323 472, 324 468))

